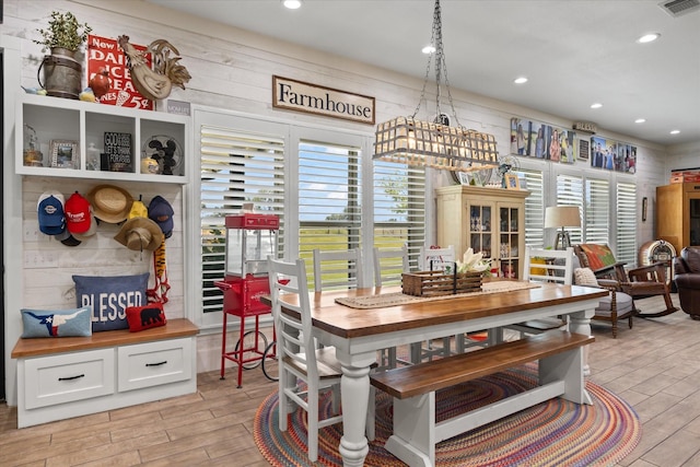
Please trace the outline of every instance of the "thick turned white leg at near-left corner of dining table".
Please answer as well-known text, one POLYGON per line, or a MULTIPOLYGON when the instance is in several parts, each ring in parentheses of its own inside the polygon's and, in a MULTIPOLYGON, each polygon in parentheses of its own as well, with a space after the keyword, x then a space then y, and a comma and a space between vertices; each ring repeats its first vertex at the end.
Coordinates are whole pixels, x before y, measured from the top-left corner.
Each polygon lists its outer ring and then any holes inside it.
POLYGON ((364 425, 370 398, 370 367, 342 365, 340 397, 342 399, 342 437, 339 452, 345 467, 362 467, 370 452, 364 425))

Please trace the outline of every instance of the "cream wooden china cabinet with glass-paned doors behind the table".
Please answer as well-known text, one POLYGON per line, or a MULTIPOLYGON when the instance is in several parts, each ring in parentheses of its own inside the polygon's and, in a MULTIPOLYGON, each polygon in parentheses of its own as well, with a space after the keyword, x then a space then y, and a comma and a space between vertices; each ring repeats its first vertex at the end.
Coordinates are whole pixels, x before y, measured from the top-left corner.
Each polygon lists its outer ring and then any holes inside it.
POLYGON ((491 271, 521 278, 525 254, 526 190, 464 185, 435 189, 438 244, 454 245, 457 258, 467 248, 491 259, 491 271))

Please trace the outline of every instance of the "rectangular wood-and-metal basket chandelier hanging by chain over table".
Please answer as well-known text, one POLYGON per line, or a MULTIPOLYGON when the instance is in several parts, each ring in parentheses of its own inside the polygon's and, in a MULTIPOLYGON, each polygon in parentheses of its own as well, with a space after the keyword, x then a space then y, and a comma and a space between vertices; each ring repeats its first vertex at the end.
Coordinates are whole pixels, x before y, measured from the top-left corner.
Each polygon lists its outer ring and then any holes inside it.
POLYGON ((410 117, 397 117, 378 124, 375 132, 375 160, 396 162, 412 166, 434 167, 455 172, 472 172, 498 167, 495 138, 492 135, 464 128, 457 119, 447 66, 442 45, 442 15, 440 0, 435 0, 431 45, 434 51, 428 58, 425 79, 418 106, 410 117), (416 118, 425 100, 425 86, 430 78, 432 58, 435 58, 436 117, 433 121, 416 118), (450 117, 442 113, 442 79, 456 126, 450 126, 450 117))

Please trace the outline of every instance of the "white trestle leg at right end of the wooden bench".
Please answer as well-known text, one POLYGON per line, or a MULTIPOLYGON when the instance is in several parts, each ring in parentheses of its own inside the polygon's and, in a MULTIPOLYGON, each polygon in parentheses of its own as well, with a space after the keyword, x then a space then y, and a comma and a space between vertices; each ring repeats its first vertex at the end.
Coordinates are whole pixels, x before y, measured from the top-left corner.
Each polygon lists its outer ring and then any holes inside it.
POLYGON ((564 382, 562 398, 576 404, 593 405, 583 377, 582 347, 539 361, 539 384, 555 381, 564 382))

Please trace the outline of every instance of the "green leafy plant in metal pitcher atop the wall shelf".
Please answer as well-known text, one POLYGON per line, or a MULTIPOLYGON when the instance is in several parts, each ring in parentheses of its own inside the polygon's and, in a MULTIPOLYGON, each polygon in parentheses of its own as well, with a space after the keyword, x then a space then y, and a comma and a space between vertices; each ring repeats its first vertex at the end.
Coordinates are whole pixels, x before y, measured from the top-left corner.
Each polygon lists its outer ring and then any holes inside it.
POLYGON ((77 60, 75 52, 88 40, 92 28, 88 23, 79 23, 73 13, 51 12, 47 28, 37 30, 40 40, 34 43, 43 46, 42 51, 50 50, 37 72, 37 79, 48 95, 78 98, 82 79, 82 63, 77 60), (44 83, 39 77, 44 69, 44 83))

